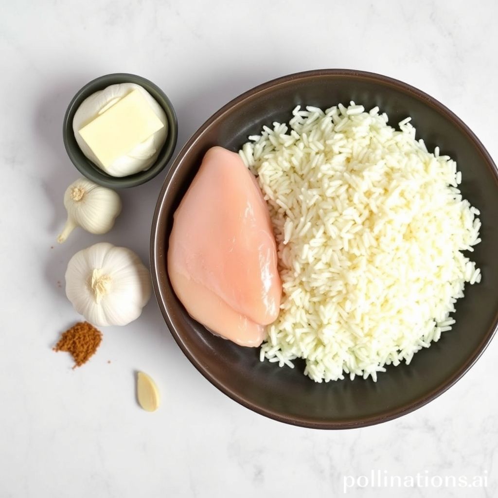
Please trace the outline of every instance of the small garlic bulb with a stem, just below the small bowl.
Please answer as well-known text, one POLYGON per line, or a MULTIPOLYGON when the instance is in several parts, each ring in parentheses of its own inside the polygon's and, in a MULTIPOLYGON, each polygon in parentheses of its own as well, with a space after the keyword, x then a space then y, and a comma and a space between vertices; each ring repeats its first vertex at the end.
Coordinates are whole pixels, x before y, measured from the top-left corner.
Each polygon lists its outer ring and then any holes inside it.
POLYGON ((121 213, 120 196, 110 188, 97 185, 86 178, 71 183, 64 193, 67 221, 57 237, 63 243, 68 235, 81 227, 91 234, 106 234, 121 213))

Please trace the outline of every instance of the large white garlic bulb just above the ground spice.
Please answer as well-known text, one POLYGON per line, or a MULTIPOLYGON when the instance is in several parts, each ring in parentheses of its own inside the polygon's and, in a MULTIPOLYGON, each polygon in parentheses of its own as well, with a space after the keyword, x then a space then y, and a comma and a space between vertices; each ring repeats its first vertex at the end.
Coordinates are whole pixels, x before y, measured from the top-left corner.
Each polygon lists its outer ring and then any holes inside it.
POLYGON ((78 251, 66 270, 66 295, 93 325, 126 325, 150 298, 148 269, 130 249, 100 242, 78 251))

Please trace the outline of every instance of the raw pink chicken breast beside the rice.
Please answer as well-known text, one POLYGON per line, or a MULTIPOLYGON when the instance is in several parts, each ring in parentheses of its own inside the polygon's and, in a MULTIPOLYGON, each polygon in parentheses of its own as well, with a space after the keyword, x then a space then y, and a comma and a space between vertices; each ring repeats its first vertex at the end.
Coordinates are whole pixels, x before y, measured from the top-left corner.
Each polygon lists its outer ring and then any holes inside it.
POLYGON ((238 154, 212 147, 175 212, 168 273, 189 314, 243 346, 259 346, 282 285, 268 208, 238 154))

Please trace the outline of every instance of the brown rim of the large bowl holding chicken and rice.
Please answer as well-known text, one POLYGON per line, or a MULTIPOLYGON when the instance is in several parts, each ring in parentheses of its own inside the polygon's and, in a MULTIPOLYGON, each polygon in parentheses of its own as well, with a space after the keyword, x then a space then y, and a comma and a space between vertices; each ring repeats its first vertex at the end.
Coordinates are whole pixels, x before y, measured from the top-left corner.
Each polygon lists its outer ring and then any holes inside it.
POLYGON ((232 398, 234 401, 237 401, 239 404, 245 406, 246 408, 249 408, 250 410, 259 413, 260 415, 266 416, 268 418, 271 418, 279 422, 284 422, 286 424, 312 428, 312 429, 352 429, 352 428, 367 427, 370 425, 387 422, 389 420, 398 418, 402 415, 411 413, 412 411, 424 406, 425 404, 434 400, 435 398, 443 394, 446 390, 448 390, 452 385, 455 384, 455 382, 457 382, 460 378, 463 377, 463 375, 465 375, 465 373, 469 371, 469 369, 476 363, 476 361, 479 359, 479 357, 484 353, 484 351, 488 347, 489 343, 491 342, 497 331, 498 311, 495 313, 493 326, 485 334, 479 345, 469 355, 467 361, 463 365, 461 365, 461 367, 457 369, 457 371, 453 375, 448 377, 446 381, 444 381, 439 386, 435 387, 425 395, 416 398, 411 403, 405 404, 402 407, 388 409, 382 414, 365 416, 355 420, 317 421, 316 419, 310 420, 307 419, 306 417, 282 415, 281 413, 268 409, 264 406, 260 406, 257 403, 252 403, 247 399, 245 399, 244 397, 239 396, 237 393, 232 391, 228 385, 225 385, 223 382, 221 382, 219 379, 213 376, 208 370, 206 370, 196 360, 196 358, 190 351, 188 344, 186 344, 181 335, 173 326, 170 318, 171 311, 167 309, 167 306, 165 304, 166 300, 162 294, 161 285, 160 285, 160 282, 164 278, 166 279, 168 278, 167 274, 161 275, 161 273, 164 273, 161 270, 161 266, 164 267, 163 260, 166 256, 165 254, 161 253, 158 246, 161 239, 160 230, 164 221, 164 215, 162 214, 163 211, 162 206, 164 204, 164 201, 166 199, 169 190, 173 187, 171 185, 172 175, 178 168, 178 165, 183 160, 183 157, 195 145, 199 137, 206 131, 206 129, 211 124, 219 120, 224 114, 226 114, 229 111, 232 111, 233 109, 241 105, 244 105, 244 103, 249 98, 253 98, 255 95, 261 92, 264 92, 270 88, 275 88, 282 85, 288 85, 289 83, 292 83, 294 81, 301 82, 307 79, 316 79, 316 78, 330 77, 330 76, 334 76, 337 78, 355 77, 363 80, 370 80, 375 83, 380 83, 385 86, 395 88, 396 90, 399 90, 405 94, 412 95, 415 98, 422 100, 425 104, 429 105, 430 107, 435 109, 439 114, 444 116, 446 119, 450 120, 453 124, 455 124, 458 128, 460 128, 460 130, 464 134, 466 134, 469 137, 469 139, 474 143, 476 150, 481 154, 484 161, 487 163, 488 167, 491 169, 492 173, 495 175, 495 177, 498 180, 497 166, 495 165, 491 155, 486 150, 486 148, 479 140, 479 138, 476 136, 476 134, 469 128, 469 126, 467 126, 456 114, 450 111, 446 106, 441 104, 438 100, 431 97, 427 93, 419 90, 418 88, 388 76, 384 76, 373 72, 359 71, 353 69, 317 69, 317 70, 292 73, 286 76, 275 78, 260 85, 257 85, 256 87, 232 99, 230 102, 224 105, 220 110, 214 113, 208 120, 206 120, 204 124, 202 124, 197 129, 197 131, 188 139, 188 141, 182 147, 180 152, 176 155, 175 160, 171 164, 171 167, 164 179, 164 183, 158 195, 158 200, 156 203, 152 219, 149 257, 150 257, 150 269, 152 275, 152 285, 154 289, 154 294, 156 296, 157 303, 159 305, 159 308, 161 310, 161 313, 163 315, 163 318, 166 322, 166 325, 171 335, 173 336, 175 342, 182 350, 183 354, 188 358, 190 363, 192 363, 194 367, 215 387, 217 387, 224 394, 232 398))

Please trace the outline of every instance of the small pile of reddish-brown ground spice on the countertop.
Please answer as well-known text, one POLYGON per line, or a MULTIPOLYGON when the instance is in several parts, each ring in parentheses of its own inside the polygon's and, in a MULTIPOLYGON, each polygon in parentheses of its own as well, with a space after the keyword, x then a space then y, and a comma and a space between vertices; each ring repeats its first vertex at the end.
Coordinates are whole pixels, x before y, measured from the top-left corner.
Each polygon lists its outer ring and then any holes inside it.
POLYGON ((62 334, 54 351, 71 353, 76 367, 81 367, 95 354, 102 342, 102 332, 88 322, 79 322, 62 334))

